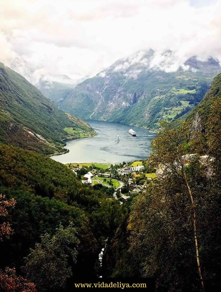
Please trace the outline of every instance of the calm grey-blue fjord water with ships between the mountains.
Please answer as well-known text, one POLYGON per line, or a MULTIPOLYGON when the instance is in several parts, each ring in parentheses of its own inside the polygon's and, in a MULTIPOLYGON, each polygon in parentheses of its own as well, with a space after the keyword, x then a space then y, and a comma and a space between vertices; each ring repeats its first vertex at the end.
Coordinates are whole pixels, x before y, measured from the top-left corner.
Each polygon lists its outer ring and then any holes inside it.
POLYGON ((119 163, 146 159, 150 154, 150 142, 155 137, 146 129, 103 121, 87 121, 97 132, 91 138, 75 139, 67 142, 69 152, 51 158, 61 163, 100 162, 119 163), (133 128, 137 136, 128 131, 133 128), (119 138, 117 138, 119 136, 119 138))

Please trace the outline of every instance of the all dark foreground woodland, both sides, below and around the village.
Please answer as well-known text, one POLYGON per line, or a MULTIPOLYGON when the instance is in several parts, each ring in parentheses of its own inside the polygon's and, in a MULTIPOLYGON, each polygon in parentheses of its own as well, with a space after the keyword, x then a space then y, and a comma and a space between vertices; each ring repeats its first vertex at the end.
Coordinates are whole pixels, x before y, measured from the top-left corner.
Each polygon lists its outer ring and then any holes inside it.
POLYGON ((221 74, 186 121, 161 122, 147 160, 161 174, 123 204, 63 164, 1 144, 0 291, 68 291, 89 275, 220 291, 220 88, 221 74))

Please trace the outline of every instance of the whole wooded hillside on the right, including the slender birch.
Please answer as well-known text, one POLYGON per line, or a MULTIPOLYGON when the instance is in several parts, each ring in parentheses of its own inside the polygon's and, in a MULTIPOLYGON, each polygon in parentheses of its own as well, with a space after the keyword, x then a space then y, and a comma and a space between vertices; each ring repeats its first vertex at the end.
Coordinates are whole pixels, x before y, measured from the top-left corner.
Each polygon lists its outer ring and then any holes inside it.
POLYGON ((108 242, 107 274, 155 277, 157 291, 220 290, 220 86, 218 75, 193 112, 204 125, 194 138, 191 119, 160 124, 148 163, 161 175, 108 242))

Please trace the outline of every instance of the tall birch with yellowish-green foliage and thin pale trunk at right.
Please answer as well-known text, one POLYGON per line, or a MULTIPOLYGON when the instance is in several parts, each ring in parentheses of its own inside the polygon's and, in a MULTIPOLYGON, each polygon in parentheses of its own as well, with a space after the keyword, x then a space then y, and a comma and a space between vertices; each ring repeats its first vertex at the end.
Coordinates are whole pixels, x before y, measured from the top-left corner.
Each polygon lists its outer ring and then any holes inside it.
POLYGON ((156 277, 167 291, 204 291, 205 286, 217 291, 220 263, 214 252, 221 237, 220 227, 211 222, 221 218, 220 170, 215 168, 220 158, 202 163, 199 156, 188 156, 188 124, 161 127, 151 160, 163 173, 133 204, 131 253, 141 275, 156 277), (212 177, 211 167, 217 169, 212 177))

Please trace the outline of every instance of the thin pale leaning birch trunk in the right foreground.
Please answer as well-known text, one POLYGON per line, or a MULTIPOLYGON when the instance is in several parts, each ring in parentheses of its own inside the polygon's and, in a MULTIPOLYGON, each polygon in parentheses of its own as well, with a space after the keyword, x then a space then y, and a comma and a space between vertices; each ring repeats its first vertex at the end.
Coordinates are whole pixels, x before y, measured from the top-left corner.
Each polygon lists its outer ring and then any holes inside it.
POLYGON ((193 195, 190 189, 190 186, 188 184, 188 181, 186 179, 186 174, 184 171, 184 180, 186 183, 186 186, 189 190, 189 194, 190 194, 190 199, 191 199, 191 203, 192 203, 192 207, 193 207, 193 230, 194 230, 194 238, 195 238, 195 247, 196 247, 196 261, 197 261, 197 267, 198 267, 198 273, 199 273, 199 277, 201 280, 201 285, 202 285, 202 291, 205 292, 205 288, 204 288, 204 282, 203 282, 203 275, 202 275, 202 271, 201 271, 201 265, 200 265, 200 257, 199 257, 199 248, 198 248, 198 236, 197 236, 197 230, 196 230, 196 205, 193 199, 193 195))

